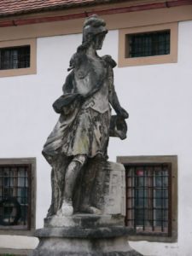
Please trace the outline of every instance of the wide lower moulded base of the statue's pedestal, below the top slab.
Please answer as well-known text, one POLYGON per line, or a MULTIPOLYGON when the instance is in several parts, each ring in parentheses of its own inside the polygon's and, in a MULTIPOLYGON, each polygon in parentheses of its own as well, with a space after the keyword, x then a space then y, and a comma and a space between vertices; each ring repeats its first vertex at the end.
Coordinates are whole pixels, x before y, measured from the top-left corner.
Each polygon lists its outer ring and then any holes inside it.
POLYGON ((32 256, 142 256, 129 246, 129 231, 124 227, 44 228, 36 231, 40 242, 32 256))

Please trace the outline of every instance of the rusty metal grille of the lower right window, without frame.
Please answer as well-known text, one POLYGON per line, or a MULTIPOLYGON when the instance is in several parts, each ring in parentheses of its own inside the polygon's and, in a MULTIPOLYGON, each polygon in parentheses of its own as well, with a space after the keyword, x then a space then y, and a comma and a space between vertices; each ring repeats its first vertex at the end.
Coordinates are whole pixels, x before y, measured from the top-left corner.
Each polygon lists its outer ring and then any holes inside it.
POLYGON ((172 236, 171 164, 125 166, 125 224, 136 234, 172 236))

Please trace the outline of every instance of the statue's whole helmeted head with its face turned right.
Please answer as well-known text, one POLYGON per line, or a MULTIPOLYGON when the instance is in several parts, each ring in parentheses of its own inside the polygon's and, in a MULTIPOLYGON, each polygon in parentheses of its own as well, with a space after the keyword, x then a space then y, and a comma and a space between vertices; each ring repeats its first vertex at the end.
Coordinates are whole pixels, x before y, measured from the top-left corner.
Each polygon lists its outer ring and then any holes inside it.
POLYGON ((108 33, 106 23, 97 15, 91 15, 84 21, 83 44, 86 42, 95 42, 96 49, 102 49, 102 41, 108 33))

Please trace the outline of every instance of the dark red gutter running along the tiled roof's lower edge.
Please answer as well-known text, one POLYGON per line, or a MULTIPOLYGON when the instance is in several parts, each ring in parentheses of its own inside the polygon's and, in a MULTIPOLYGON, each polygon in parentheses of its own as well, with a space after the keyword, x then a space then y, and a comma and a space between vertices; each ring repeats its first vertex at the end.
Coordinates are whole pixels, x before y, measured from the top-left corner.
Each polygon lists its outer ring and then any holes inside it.
MULTIPOLYGON (((99 1, 96 1, 97 3, 99 1)), ((59 11, 55 12, 55 15, 51 15, 51 13, 39 12, 37 15, 20 15, 20 16, 9 16, 6 18, 0 17, 0 27, 4 26, 23 26, 44 22, 54 22, 61 20, 75 20, 81 19, 86 16, 90 16, 92 14, 97 15, 115 15, 115 14, 123 14, 123 13, 131 13, 131 12, 139 12, 145 10, 153 10, 153 9, 170 9, 174 7, 179 7, 183 5, 192 5, 192 0, 125 0, 125 1, 101 1, 110 2, 108 5, 98 5, 95 9, 90 8, 90 6, 86 5, 86 8, 81 9, 71 9, 70 13, 66 14, 62 13, 60 15, 59 11), (113 2, 113 4, 112 4, 113 2), (116 3, 115 3, 116 2, 116 3), (118 2, 118 4, 117 4, 118 2)), ((96 5, 96 4, 95 4, 96 5)), ((84 6, 85 7, 85 6, 84 6)), ((53 12, 52 12, 53 14, 53 12)))

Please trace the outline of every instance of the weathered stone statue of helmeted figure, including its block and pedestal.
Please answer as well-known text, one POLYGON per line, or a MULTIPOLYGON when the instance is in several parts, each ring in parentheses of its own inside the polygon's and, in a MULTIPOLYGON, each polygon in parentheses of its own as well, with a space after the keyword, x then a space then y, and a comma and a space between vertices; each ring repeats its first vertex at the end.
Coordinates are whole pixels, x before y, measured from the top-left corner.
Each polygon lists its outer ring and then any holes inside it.
POLYGON ((108 139, 125 139, 128 113, 114 90, 115 61, 96 53, 107 32, 97 15, 85 20, 63 95, 53 104, 60 118, 43 149, 52 201, 32 256, 142 256, 127 241, 134 230, 125 227, 125 167, 108 161, 108 139))

